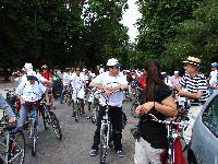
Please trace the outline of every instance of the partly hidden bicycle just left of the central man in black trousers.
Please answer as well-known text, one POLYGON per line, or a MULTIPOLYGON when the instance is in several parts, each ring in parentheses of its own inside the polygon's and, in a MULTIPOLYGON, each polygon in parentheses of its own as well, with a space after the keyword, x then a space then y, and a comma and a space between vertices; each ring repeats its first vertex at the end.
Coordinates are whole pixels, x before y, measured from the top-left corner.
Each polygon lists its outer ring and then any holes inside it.
POLYGON ((97 90, 92 90, 88 97, 88 103, 90 103, 90 115, 87 119, 92 118, 92 122, 95 124, 97 120, 97 115, 99 110, 99 92, 97 90))

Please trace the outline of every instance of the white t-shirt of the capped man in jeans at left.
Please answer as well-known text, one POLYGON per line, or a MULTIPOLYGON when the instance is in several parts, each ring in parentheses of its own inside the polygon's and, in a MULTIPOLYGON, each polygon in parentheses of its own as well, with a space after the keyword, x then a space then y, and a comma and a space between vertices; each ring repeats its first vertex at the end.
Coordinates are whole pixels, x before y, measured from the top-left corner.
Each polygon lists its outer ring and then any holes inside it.
POLYGON ((36 102, 41 98, 45 92, 46 86, 37 81, 35 81, 34 84, 31 84, 28 81, 26 83, 21 83, 15 91, 25 102, 36 102))

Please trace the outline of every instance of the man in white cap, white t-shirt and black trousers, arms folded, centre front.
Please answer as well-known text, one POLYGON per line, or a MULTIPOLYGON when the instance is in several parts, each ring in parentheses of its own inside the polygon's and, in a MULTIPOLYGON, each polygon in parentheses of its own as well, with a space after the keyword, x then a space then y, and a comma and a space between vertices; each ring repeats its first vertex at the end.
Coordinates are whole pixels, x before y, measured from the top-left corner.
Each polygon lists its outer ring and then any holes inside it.
POLYGON ((106 109, 106 98, 104 96, 109 96, 109 117, 112 124, 112 139, 114 144, 114 150, 119 157, 123 157, 124 153, 122 151, 122 101, 123 92, 122 89, 128 87, 126 78, 120 72, 121 65, 114 58, 111 58, 107 62, 108 71, 97 75, 89 84, 92 87, 104 91, 99 98, 99 114, 97 118, 97 129, 94 136, 94 143, 92 145, 90 156, 96 156, 98 153, 98 145, 100 143, 100 126, 101 119, 105 115, 106 109))

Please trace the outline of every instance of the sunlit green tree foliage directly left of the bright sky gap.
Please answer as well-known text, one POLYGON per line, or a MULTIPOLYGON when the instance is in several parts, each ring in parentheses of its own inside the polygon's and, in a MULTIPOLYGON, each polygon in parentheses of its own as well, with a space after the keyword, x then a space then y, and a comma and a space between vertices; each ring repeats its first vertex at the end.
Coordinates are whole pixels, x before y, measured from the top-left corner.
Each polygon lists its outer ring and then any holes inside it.
POLYGON ((126 54, 128 28, 120 23, 126 8, 126 0, 88 0, 85 39, 93 68, 96 63, 105 65, 110 57, 121 59, 126 54))

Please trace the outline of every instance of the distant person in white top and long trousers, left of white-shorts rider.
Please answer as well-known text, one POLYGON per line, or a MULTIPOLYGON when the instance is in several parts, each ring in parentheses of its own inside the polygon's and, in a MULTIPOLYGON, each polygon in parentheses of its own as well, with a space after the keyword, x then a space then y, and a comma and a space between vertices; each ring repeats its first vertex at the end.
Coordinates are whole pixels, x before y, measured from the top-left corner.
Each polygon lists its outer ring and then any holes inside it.
POLYGON ((64 94, 65 94, 68 86, 70 84, 70 80, 71 80, 70 72, 71 72, 71 68, 65 68, 65 72, 63 72, 63 80, 62 80, 63 89, 62 89, 62 92, 61 92, 61 99, 60 99, 61 104, 63 104, 63 97, 64 97, 64 94))

